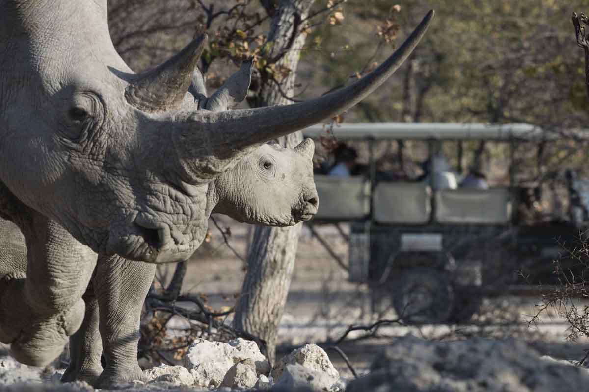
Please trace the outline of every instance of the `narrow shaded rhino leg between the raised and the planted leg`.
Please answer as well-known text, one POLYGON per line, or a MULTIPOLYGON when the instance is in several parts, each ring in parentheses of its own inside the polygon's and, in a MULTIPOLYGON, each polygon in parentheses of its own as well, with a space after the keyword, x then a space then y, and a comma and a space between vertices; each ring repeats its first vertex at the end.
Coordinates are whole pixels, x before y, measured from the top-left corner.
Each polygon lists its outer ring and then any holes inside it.
POLYGON ((98 300, 94 295, 92 283, 84 294, 86 312, 80 329, 70 337, 70 366, 65 370, 61 381, 86 381, 94 384, 102 373, 100 357, 102 340, 98 332, 98 300))

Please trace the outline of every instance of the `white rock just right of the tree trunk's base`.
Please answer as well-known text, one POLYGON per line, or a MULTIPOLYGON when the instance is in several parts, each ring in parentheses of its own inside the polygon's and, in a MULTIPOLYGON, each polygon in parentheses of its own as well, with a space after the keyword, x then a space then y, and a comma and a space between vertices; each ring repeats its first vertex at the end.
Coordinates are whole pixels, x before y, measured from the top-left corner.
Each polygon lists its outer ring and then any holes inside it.
POLYGON ((274 377, 274 380, 278 380, 282 376, 282 373, 288 364, 300 364, 310 370, 326 374, 331 380, 329 386, 332 386, 339 381, 339 373, 337 373, 337 370, 333 367, 327 353, 316 344, 306 344, 280 359, 272 370, 272 377, 274 377))

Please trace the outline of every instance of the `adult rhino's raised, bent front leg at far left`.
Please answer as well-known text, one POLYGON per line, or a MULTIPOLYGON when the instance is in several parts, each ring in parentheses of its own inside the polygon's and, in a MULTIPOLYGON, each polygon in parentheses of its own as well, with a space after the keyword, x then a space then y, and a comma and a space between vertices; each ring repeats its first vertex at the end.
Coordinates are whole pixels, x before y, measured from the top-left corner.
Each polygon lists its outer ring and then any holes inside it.
POLYGON ((2 280, 0 339, 16 360, 44 366, 63 350, 84 319, 82 294, 96 256, 47 217, 22 207, 15 223, 27 243, 26 277, 2 280))

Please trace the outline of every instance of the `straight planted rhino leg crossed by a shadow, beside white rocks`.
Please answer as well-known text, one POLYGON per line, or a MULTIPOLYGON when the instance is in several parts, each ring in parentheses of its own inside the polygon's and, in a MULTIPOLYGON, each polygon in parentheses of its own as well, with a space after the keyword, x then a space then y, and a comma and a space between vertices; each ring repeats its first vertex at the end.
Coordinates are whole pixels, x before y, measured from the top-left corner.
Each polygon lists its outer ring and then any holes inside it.
POLYGON ((98 258, 94 290, 100 309, 100 336, 106 367, 96 387, 143 379, 137 363, 139 324, 155 264, 119 256, 98 258))

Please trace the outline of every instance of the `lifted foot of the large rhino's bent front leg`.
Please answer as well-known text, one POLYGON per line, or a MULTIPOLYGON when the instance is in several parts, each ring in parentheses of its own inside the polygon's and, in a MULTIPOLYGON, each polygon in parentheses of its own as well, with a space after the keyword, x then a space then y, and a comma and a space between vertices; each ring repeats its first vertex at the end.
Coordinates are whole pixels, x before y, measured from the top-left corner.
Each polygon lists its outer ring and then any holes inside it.
POLYGON ((12 341, 12 355, 29 366, 47 365, 62 353, 70 336, 80 328, 84 309, 84 301, 80 299, 70 310, 58 314, 35 317, 31 311, 32 322, 18 323, 22 327, 12 341))

